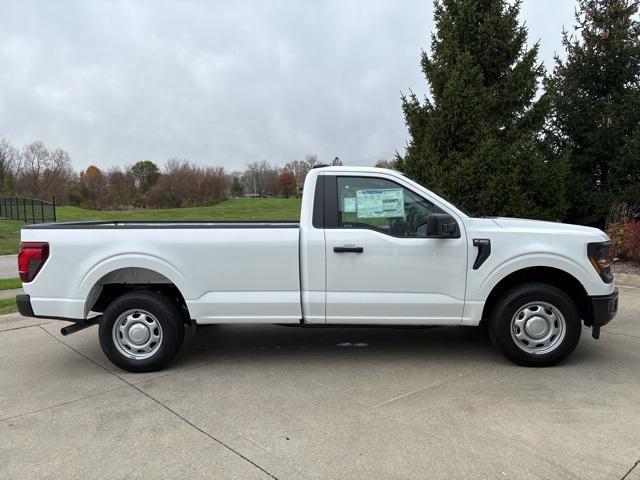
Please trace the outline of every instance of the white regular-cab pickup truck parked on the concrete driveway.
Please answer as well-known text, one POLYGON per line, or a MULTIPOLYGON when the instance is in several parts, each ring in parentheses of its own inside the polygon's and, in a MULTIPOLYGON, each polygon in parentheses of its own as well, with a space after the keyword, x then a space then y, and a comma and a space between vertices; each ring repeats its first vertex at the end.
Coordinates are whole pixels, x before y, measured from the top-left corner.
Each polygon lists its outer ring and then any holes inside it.
POLYGON ((313 169, 300 222, 74 222, 22 229, 20 313, 99 324, 107 357, 162 368, 185 326, 486 325, 553 365, 616 314, 595 228, 472 218, 401 173, 313 169))

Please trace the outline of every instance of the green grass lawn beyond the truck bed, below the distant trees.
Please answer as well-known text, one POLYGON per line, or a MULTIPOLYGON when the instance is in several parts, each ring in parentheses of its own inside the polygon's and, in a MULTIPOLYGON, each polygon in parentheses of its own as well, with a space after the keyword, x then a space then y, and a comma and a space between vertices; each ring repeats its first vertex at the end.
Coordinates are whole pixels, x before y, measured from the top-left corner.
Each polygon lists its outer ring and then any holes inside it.
MULTIPOLYGON (((299 198, 233 198, 211 207, 159 210, 86 210, 58 207, 59 222, 80 220, 298 220, 299 198)), ((18 252, 22 222, 0 220, 0 255, 18 252)))

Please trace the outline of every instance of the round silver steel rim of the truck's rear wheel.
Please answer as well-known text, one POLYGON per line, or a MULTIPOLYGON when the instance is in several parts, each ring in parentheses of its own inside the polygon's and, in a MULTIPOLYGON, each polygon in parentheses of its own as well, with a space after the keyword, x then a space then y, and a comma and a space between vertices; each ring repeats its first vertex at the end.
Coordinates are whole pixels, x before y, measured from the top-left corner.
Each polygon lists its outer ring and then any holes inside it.
POLYGON ((162 327, 146 310, 127 310, 113 324, 113 343, 125 357, 144 360, 162 345, 162 327))

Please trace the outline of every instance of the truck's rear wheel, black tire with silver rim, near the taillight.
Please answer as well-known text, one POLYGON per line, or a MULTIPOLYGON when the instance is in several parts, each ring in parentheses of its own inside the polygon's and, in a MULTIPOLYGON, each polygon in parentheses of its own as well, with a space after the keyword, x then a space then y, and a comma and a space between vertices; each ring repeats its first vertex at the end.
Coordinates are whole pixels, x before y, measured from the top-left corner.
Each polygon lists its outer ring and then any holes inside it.
MULTIPOLYGON (((134 338, 131 328, 125 334, 134 338)), ((128 372, 153 372, 162 369, 180 350, 184 340, 184 317, 177 305, 165 296, 147 290, 133 291, 116 298, 106 308, 100 322, 99 337, 102 351, 116 366, 128 372), (123 339, 120 330, 114 331, 117 321, 130 327, 138 323, 137 336, 142 339, 149 336, 139 346, 149 351, 137 350, 137 344, 123 339), (116 340, 115 335, 121 340, 116 340), (154 344, 155 338, 158 341, 154 344)))

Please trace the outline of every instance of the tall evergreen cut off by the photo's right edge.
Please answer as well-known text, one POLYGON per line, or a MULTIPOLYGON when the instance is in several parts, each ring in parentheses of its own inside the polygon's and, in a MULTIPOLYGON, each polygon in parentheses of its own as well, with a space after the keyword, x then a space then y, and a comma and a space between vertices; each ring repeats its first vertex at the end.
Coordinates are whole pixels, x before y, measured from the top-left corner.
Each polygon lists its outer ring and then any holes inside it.
POLYGON ((602 227, 615 202, 640 202, 637 0, 579 0, 548 84, 556 148, 570 163, 568 219, 602 227), (635 17, 635 18, 634 18, 635 17))

